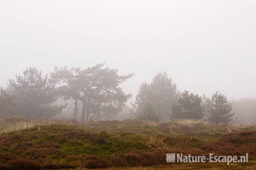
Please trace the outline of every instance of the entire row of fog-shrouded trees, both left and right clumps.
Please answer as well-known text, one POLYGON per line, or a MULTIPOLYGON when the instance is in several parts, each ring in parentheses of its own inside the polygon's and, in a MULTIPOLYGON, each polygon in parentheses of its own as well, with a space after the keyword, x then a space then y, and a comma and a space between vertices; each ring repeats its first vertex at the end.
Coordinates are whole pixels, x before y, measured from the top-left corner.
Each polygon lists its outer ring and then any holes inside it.
MULTIPOLYGON (((36 68, 9 80, 0 88, 0 112, 24 117, 54 117, 67 103, 74 101, 73 119, 88 122, 90 115, 102 117, 120 113, 132 97, 120 88, 120 83, 133 74, 118 75, 117 69, 97 64, 88 68, 55 67, 48 75, 36 68), (79 106, 82 108, 79 109, 79 106), (80 117, 78 117, 80 115, 80 117)), ((143 82, 132 103, 138 119, 168 121, 169 119, 202 119, 227 125, 234 115, 226 96, 218 92, 211 98, 177 90, 166 72, 158 72, 150 84, 143 82), (207 113, 207 114, 206 114, 207 113)))

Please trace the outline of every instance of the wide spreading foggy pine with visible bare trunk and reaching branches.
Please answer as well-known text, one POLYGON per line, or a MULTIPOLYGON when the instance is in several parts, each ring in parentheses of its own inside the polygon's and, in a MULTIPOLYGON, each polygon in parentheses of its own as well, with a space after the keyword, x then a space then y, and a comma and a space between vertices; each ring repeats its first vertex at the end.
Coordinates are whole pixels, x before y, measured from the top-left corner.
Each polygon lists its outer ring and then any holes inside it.
POLYGON ((119 84, 133 74, 120 76, 117 74, 118 70, 103 68, 103 66, 104 64, 97 64, 86 69, 70 70, 57 68, 52 77, 64 80, 64 85, 60 86, 60 92, 63 95, 71 96, 82 103, 81 121, 83 123, 89 121, 92 113, 108 115, 120 112, 127 100, 131 98, 131 94, 125 94, 119 84))

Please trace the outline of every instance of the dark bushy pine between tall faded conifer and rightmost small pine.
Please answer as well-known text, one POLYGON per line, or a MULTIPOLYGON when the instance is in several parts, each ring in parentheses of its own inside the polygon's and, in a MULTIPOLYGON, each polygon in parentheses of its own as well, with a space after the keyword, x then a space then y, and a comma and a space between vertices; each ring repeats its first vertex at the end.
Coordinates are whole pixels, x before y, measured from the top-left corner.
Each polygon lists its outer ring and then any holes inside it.
POLYGON ((204 109, 201 102, 202 99, 198 94, 189 94, 185 90, 179 97, 177 104, 172 105, 171 117, 176 119, 202 119, 204 109))

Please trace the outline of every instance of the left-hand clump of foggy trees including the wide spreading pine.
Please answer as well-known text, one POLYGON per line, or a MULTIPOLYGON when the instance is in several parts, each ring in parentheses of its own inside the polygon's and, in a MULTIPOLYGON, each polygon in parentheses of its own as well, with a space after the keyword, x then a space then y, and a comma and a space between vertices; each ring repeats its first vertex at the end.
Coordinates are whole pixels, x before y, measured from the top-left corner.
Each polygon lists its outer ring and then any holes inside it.
POLYGON ((125 94, 119 84, 133 74, 120 76, 118 70, 103 68, 104 64, 82 68, 55 68, 43 76, 36 68, 27 68, 6 89, 0 89, 0 112, 24 117, 54 117, 64 105, 54 104, 58 98, 74 100, 73 118, 78 117, 78 103, 82 104, 82 122, 90 114, 98 116, 120 112, 131 94, 125 94))

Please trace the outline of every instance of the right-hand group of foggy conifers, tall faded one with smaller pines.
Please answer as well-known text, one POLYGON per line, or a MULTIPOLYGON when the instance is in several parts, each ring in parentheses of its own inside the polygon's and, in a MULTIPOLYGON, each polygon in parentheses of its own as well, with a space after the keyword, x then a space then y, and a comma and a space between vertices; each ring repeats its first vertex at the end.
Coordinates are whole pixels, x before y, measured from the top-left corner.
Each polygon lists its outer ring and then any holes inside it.
POLYGON ((215 124, 227 125, 234 115, 225 95, 218 92, 211 98, 200 97, 187 90, 180 93, 166 72, 159 72, 151 84, 140 85, 133 104, 138 118, 150 121, 170 119, 202 119, 215 124), (205 113, 208 113, 206 116, 205 113))

